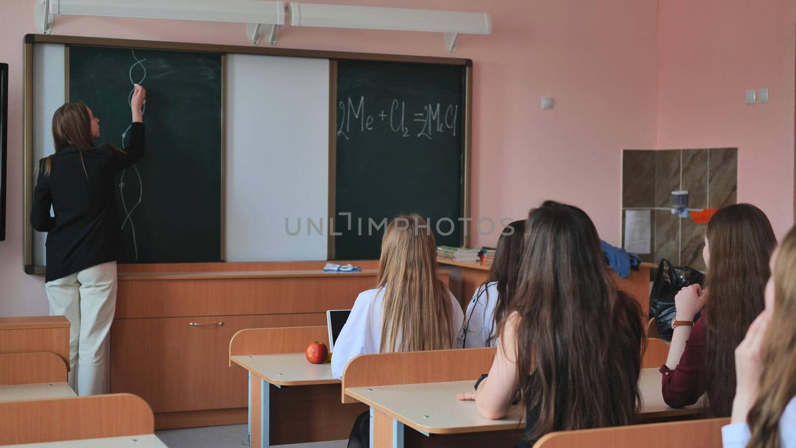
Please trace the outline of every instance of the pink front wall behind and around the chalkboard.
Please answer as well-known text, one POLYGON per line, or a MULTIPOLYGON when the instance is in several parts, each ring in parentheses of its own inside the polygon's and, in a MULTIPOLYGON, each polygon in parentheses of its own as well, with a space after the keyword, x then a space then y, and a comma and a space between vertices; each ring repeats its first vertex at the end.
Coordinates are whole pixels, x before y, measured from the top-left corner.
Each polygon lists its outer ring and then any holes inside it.
MULTIPOLYGON (((221 0, 219 0, 221 1, 221 0)), ((654 147, 655 0, 325 0, 492 14, 491 36, 462 36, 474 61, 474 217, 521 218, 546 198, 574 202, 619 244, 622 148, 654 147), (540 110, 540 96, 556 108, 540 110)), ((22 272, 22 37, 32 0, 3 0, 0 61, 10 64, 8 229, 0 242, 0 316, 46 313, 43 279, 22 272)), ((247 45, 244 26, 59 17, 54 33, 247 45)), ((279 47, 447 56, 431 33, 291 29, 279 47)), ((773 86, 772 86, 773 87, 773 86)), ((475 238, 494 244, 494 236, 475 238)))

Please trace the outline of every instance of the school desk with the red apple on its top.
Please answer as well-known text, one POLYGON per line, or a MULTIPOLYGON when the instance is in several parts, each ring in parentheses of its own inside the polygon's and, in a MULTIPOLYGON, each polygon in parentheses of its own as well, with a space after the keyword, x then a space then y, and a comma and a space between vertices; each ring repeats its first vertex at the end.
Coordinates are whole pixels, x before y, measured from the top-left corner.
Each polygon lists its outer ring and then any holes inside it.
POLYGON ((340 403, 340 380, 332 376, 330 363, 310 364, 304 353, 230 358, 248 370, 248 432, 252 448, 267 448, 271 443, 286 441, 348 438, 357 415, 367 411, 364 406, 340 403), (279 389, 287 387, 287 390, 272 395, 271 385, 279 389), (283 392, 286 392, 284 396, 279 396, 283 392), (306 406, 297 406, 295 402, 301 400, 306 406), (272 422, 274 430, 287 432, 284 428, 289 428, 293 434, 272 434, 272 422))

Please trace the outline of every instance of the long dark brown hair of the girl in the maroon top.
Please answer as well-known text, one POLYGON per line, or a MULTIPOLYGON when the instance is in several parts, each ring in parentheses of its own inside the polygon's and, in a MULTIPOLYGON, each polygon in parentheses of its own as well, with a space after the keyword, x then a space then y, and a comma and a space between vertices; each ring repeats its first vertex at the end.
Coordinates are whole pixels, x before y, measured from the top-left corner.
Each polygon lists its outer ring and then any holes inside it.
POLYGON ((766 214, 751 204, 726 206, 708 222, 708 301, 704 383, 710 412, 727 417, 736 392, 735 350, 765 306, 768 261, 777 244, 766 214))

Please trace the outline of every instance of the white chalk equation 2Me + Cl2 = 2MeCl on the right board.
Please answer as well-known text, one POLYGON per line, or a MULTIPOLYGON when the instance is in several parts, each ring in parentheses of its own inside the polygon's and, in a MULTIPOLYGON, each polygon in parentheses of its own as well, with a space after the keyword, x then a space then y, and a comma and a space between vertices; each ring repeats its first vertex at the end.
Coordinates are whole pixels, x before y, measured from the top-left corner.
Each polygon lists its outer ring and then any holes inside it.
POLYGON ((371 112, 365 96, 348 96, 339 101, 337 136, 350 140, 354 132, 384 127, 401 137, 434 140, 435 136, 446 133, 456 136, 458 131, 458 104, 427 103, 416 111, 407 111, 406 101, 394 99, 389 107, 376 107, 373 112, 377 113, 371 112))

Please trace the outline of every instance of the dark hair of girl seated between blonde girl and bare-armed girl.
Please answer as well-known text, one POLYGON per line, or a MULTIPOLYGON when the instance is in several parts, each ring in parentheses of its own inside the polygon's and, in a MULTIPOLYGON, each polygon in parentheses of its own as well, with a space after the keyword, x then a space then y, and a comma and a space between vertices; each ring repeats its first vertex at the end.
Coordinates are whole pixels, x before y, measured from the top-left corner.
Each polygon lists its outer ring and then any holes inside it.
MULTIPOLYGON (((486 319, 494 319, 494 322, 500 322, 509 311, 511 306, 512 297, 517 292, 517 285, 520 279, 520 265, 522 263, 522 247, 525 241, 525 220, 514 221, 500 234, 497 238, 497 247, 495 248, 495 259, 490 268, 490 277, 482 283, 481 288, 486 302, 484 312, 486 312, 486 304, 491 300, 495 302, 494 317, 484 316, 486 319), (489 289, 486 286, 492 282, 497 282, 497 297, 490 297, 489 289)), ((495 337, 495 330, 497 326, 492 326, 492 332, 486 338, 486 345, 492 345, 495 337)))

